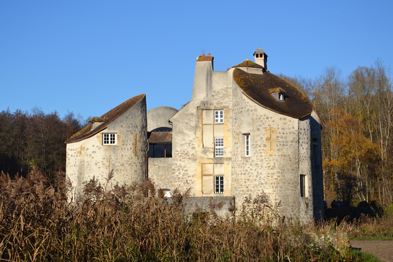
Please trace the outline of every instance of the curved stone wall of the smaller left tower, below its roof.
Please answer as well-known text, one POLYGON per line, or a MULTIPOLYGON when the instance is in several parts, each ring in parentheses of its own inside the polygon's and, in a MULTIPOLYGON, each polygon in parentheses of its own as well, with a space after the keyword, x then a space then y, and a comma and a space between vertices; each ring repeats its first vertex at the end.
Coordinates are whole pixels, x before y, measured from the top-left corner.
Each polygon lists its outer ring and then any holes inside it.
POLYGON ((111 184, 140 182, 146 176, 146 99, 143 98, 108 127, 81 142, 67 144, 66 177, 79 195, 93 177, 104 184, 111 170, 111 184), (103 133, 116 133, 116 145, 103 145, 103 133))

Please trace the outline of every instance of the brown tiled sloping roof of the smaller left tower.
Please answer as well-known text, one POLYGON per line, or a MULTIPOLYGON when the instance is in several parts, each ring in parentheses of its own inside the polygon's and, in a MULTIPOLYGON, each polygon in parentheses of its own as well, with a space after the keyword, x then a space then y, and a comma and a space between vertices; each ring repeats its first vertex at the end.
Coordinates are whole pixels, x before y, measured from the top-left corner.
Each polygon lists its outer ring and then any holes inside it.
POLYGON ((86 125, 81 131, 78 133, 74 134, 72 137, 70 137, 68 140, 65 141, 66 144, 68 143, 74 143, 78 142, 81 140, 84 140, 86 138, 92 137, 95 134, 99 133, 100 131, 104 130, 107 128, 107 126, 112 123, 117 117, 123 115, 126 113, 129 109, 131 109, 133 106, 135 106, 141 99, 145 97, 145 94, 140 94, 137 96, 134 96, 127 101, 123 102, 122 104, 118 105, 117 107, 113 108, 112 110, 108 111, 101 117, 93 117, 90 120, 91 121, 97 121, 99 120, 100 122, 102 121, 102 124, 91 130, 92 123, 89 123, 86 125))

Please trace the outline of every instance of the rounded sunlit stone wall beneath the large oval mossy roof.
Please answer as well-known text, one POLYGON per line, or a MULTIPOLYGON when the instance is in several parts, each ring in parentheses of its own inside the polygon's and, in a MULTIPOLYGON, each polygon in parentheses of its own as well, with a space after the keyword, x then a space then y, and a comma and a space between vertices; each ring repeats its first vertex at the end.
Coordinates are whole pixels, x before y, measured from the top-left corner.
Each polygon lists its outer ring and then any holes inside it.
POLYGON ((257 105, 235 82, 232 116, 233 195, 243 199, 264 191, 271 204, 281 203, 285 216, 301 216, 298 119, 257 105), (243 134, 251 135, 249 157, 243 153, 243 134))

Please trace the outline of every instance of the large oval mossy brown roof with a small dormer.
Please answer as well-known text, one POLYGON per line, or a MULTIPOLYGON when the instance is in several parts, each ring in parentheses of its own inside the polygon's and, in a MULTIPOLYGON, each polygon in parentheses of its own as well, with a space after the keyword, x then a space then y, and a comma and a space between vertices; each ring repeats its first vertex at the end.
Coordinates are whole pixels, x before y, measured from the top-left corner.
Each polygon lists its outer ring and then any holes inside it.
POLYGON ((236 68, 233 79, 247 97, 264 108, 294 118, 302 118, 312 112, 312 104, 305 94, 268 71, 263 74, 250 74, 236 68), (278 101, 270 93, 271 90, 280 90, 279 88, 285 90, 284 101, 278 101))

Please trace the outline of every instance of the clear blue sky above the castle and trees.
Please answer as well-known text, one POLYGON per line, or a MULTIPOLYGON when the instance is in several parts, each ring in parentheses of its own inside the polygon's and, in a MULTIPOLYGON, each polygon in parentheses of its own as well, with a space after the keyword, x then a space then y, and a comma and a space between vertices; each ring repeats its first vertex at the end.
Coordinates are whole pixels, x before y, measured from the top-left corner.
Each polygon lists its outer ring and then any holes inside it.
POLYGON ((147 109, 179 109, 197 56, 225 71, 258 47, 274 74, 347 76, 392 63, 392 11, 391 0, 1 0, 0 111, 87 118, 141 93, 147 109))

